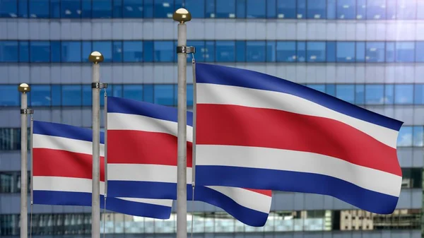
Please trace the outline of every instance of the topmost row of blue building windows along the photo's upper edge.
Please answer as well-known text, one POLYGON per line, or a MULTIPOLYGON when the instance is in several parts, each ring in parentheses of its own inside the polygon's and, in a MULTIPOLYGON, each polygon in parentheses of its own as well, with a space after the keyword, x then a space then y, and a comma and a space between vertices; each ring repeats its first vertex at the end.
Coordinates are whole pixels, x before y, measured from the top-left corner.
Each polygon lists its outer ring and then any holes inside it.
POLYGON ((3 0, 2 18, 424 19, 421 0, 3 0))

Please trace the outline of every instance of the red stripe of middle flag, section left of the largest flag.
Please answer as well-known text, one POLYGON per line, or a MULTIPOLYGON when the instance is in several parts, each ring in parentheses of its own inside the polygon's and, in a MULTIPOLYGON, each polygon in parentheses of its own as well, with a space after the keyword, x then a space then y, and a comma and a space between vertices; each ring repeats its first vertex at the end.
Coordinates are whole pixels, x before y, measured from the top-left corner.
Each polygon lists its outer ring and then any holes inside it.
MULTIPOLYGON (((107 162, 177 166, 177 137, 148 131, 107 131, 107 162)), ((192 167, 191 142, 187 142, 187 167, 192 167)))

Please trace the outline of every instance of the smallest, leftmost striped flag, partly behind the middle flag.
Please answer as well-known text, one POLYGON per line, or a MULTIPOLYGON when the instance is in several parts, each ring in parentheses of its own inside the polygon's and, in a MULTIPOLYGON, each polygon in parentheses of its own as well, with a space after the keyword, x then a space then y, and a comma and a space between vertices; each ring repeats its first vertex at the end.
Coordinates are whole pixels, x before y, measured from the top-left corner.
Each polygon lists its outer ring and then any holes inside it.
MULTIPOLYGON (((76 126, 34 121, 33 200, 35 204, 91 206, 93 132, 76 126)), ((105 192, 104 136, 100 134, 100 206, 105 192)), ((172 200, 107 197, 107 210, 168 219, 172 200)))

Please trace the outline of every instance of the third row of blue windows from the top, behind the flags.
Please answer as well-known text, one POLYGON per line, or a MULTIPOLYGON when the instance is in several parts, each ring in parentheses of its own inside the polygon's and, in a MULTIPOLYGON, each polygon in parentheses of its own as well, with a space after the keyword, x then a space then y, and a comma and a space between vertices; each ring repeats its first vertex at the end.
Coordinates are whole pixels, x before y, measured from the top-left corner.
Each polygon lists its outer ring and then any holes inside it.
MULTIPOLYGON (((355 105, 424 105, 424 84, 305 84, 322 93, 338 97, 355 105)), ((91 106, 89 84, 35 84, 28 94, 30 107, 91 106)), ((16 85, 0 84, 0 107, 20 105, 16 85)), ((107 95, 152 102, 165 106, 177 105, 177 84, 108 84, 107 95)), ((100 105, 104 104, 103 95, 100 105)), ((193 105, 193 85, 187 84, 187 105, 193 105)))

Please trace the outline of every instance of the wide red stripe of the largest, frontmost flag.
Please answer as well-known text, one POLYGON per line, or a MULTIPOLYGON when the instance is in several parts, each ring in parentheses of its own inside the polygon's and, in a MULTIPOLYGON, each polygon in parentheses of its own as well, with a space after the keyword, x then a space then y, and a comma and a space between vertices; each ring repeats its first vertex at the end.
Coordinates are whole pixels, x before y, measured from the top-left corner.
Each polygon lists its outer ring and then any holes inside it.
POLYGON ((396 149, 340 121, 276 109, 197 105, 198 145, 241 145, 329 155, 401 176, 396 149))

